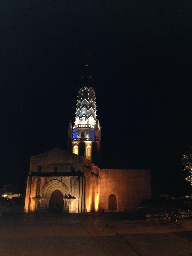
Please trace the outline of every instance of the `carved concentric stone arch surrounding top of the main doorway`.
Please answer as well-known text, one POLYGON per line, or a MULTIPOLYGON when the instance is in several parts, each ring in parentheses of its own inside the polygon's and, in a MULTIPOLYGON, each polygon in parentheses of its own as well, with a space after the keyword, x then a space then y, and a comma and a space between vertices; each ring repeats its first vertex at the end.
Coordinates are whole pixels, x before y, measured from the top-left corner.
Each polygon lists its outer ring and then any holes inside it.
POLYGON ((54 179, 50 180, 44 185, 40 191, 40 196, 41 198, 50 198, 53 191, 57 189, 61 191, 63 196, 65 196, 65 194, 69 194, 68 187, 62 181, 54 179))

